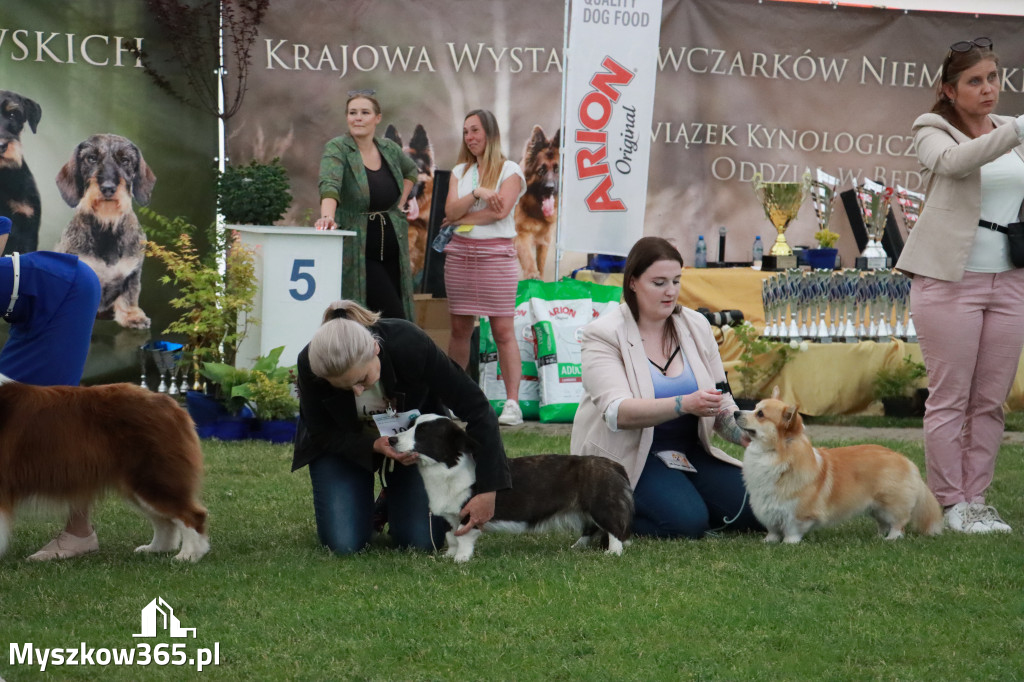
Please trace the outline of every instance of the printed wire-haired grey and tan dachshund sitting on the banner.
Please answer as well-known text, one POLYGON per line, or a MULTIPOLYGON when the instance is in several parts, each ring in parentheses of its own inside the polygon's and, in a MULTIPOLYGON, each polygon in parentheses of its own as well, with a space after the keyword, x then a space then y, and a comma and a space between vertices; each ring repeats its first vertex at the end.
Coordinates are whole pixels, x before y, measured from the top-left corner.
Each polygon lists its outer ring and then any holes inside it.
POLYGON ((148 204, 156 182, 138 147, 110 134, 81 142, 57 173, 57 188, 75 215, 56 251, 75 254, 95 270, 102 286, 100 315, 113 312, 131 329, 150 327, 138 307, 145 235, 131 201, 148 204))

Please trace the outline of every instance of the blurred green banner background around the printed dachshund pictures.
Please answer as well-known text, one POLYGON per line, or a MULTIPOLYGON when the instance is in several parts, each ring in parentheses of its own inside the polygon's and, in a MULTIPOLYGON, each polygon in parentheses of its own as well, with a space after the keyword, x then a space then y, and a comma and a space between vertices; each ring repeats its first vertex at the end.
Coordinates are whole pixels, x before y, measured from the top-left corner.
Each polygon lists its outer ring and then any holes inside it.
MULTIPOLYGON (((0 90, 39 104, 35 133, 20 140, 41 203, 38 248, 52 250, 74 214, 56 177, 79 142, 99 133, 131 140, 156 175, 150 207, 168 216, 209 224, 216 206, 216 119, 158 89, 127 51, 162 53, 166 43, 144 2, 34 0, 0 3, 0 90)), ((170 76, 172 65, 160 65, 170 76)), ((137 208, 138 204, 134 206, 137 208)), ((163 267, 146 259, 139 306, 148 330, 122 329, 98 319, 86 365, 86 383, 138 376, 139 345, 161 338, 173 318, 163 267)), ((0 335, 6 338, 6 325, 0 335)), ((0 339, 2 341, 2 339, 0 339)))

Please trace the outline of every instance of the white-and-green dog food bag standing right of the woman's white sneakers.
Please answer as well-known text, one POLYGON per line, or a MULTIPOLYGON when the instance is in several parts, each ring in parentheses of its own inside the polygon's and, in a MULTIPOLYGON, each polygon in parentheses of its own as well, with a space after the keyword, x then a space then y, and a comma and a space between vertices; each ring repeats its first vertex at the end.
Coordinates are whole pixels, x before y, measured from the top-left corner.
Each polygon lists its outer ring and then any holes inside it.
POLYGON ((583 396, 580 328, 594 317, 590 289, 583 282, 539 282, 530 298, 542 422, 571 422, 583 396))

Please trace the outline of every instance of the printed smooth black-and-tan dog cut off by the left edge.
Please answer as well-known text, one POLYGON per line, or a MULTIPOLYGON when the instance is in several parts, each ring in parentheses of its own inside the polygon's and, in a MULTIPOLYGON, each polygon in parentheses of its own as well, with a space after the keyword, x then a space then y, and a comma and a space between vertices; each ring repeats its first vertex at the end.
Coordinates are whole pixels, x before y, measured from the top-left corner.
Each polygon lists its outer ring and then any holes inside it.
POLYGON ((39 246, 39 189, 22 152, 26 124, 36 132, 43 110, 16 92, 0 90, 0 215, 11 221, 4 253, 39 246))

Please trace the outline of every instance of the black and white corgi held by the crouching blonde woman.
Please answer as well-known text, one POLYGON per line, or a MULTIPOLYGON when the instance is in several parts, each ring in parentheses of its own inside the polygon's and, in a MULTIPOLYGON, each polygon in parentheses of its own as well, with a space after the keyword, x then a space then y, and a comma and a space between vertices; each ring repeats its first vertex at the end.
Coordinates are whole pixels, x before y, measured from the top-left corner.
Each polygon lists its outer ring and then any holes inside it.
MULTIPOLYGON (((389 439, 399 453, 419 453, 417 461, 431 513, 452 526, 447 556, 469 561, 480 535, 454 530, 459 512, 472 497, 477 443, 447 417, 421 415, 408 431, 389 439)), ((633 525, 633 491, 622 465, 603 457, 534 455, 509 460, 512 487, 498 491, 495 516, 486 530, 524 532, 558 527, 581 534, 573 547, 607 538, 607 553, 621 555, 633 525)))

